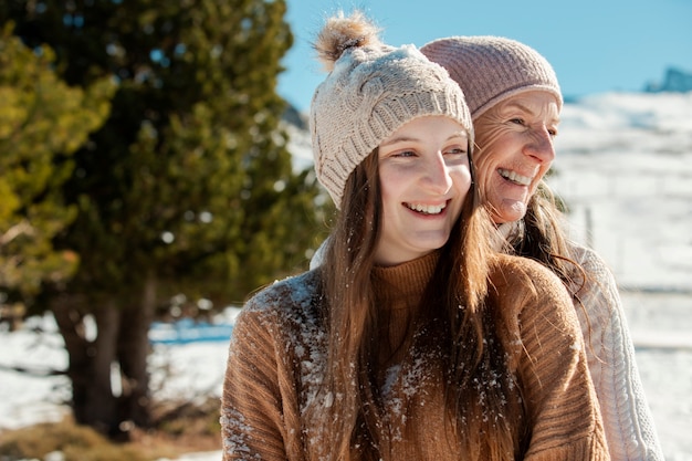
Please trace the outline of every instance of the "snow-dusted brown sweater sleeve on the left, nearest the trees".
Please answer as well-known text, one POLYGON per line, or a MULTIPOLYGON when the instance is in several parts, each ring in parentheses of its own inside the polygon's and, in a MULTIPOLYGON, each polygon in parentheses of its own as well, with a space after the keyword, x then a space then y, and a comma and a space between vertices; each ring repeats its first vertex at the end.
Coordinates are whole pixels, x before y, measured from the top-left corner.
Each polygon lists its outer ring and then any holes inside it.
POLYGON ((302 461, 302 409, 322 379, 315 272, 250 298, 235 321, 221 397, 223 460, 302 461))

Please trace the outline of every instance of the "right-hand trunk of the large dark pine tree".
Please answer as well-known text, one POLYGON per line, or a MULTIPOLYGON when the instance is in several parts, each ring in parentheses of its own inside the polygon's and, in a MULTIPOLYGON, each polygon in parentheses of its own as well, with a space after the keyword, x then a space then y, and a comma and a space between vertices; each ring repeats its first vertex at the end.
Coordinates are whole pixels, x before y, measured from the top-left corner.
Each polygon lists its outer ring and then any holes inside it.
POLYGON ((156 277, 149 275, 144 284, 141 303, 122 312, 118 336, 118 359, 123 375, 120 417, 138 427, 151 425, 149 395, 149 327, 156 307, 156 277))

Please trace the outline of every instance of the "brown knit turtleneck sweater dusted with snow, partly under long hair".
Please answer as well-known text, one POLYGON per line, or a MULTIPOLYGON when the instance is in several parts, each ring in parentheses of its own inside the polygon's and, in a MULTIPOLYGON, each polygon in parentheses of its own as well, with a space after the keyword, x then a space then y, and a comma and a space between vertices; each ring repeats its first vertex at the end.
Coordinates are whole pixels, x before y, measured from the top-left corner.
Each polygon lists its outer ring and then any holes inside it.
MULTIPOLYGON (((562 283, 528 260, 501 256, 493 274, 516 338, 513 352, 527 420, 525 460, 609 460, 579 325, 562 283)), ((378 297, 389 300, 381 376, 389 451, 384 460, 461 460, 444 438, 440 373, 416 350, 400 350, 437 255, 377 269, 378 297), (388 347, 387 347, 388 346, 388 347)), ((326 360, 319 272, 274 283, 254 295, 237 319, 223 386, 224 460, 305 460, 311 444, 302 418, 317 395, 326 360)))

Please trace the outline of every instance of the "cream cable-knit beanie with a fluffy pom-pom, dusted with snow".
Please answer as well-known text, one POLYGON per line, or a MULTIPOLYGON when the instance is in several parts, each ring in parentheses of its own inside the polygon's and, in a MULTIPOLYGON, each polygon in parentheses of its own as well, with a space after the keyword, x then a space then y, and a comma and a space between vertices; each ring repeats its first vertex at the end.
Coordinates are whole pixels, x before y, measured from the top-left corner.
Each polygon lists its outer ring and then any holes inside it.
POLYGON ((413 45, 388 46, 356 12, 327 21, 315 42, 327 71, 310 112, 317 179, 340 208, 353 170, 394 132, 415 118, 458 121, 473 145, 473 124, 459 85, 413 45))

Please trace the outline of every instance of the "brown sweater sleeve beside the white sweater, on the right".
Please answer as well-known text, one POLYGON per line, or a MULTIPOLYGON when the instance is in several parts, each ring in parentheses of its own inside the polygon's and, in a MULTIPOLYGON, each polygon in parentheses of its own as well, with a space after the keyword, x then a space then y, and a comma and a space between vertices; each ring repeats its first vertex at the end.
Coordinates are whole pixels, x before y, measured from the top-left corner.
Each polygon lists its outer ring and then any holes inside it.
POLYGON ((567 291, 552 272, 528 260, 507 264, 503 277, 500 298, 517 311, 507 318, 517 322, 510 329, 520 336, 517 374, 533 429, 525 460, 609 460, 567 291))

